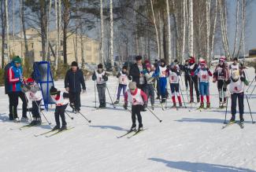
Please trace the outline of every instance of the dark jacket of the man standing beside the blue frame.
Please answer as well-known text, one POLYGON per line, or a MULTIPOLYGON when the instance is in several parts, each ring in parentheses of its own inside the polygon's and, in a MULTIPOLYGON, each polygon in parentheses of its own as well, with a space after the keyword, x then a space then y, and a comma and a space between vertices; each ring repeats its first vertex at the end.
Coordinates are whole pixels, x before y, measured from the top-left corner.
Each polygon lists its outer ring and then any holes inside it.
POLYGON ((86 90, 83 71, 77 68, 76 72, 73 72, 72 69, 67 71, 65 75, 65 88, 69 87, 69 92, 71 93, 80 93, 81 85, 83 90, 86 90))

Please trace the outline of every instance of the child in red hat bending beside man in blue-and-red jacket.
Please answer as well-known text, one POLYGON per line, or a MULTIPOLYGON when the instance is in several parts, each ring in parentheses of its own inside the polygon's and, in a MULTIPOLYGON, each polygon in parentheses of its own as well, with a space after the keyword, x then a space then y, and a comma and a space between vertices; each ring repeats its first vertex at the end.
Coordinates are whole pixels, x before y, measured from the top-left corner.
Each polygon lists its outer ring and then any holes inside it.
POLYGON ((34 79, 27 79, 25 85, 22 88, 24 93, 28 94, 29 100, 32 101, 32 117, 33 120, 29 124, 31 126, 40 126, 42 123, 42 119, 39 113, 40 104, 43 99, 43 95, 41 92, 41 88, 38 83, 34 81, 34 79))

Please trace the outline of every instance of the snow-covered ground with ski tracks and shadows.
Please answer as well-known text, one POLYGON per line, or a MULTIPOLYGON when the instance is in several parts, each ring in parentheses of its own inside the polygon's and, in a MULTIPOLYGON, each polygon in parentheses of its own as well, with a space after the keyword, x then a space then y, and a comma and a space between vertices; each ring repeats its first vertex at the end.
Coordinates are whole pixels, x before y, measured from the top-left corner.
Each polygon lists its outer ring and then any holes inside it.
MULTIPOLYGON (((254 69, 247 70, 247 74, 251 81, 254 69)), ((63 81, 55 84, 62 89, 63 81)), ((112 97, 116 85, 117 79, 110 78, 107 86, 112 97)), ((156 108, 154 112, 162 123, 150 112, 142 112, 147 130, 130 139, 117 139, 132 125, 130 113, 121 105, 112 108, 108 95, 108 108, 95 111, 92 81, 87 81, 87 93, 81 95, 81 112, 92 123, 87 123, 81 115, 70 114, 74 120, 66 116, 68 126, 75 128, 54 137, 34 137, 50 130, 46 123, 19 130, 24 123, 9 122, 8 97, 1 87, 0 171, 256 171, 256 124, 251 124, 246 100, 244 129, 234 124, 221 130, 224 109, 216 108, 217 86, 213 83, 210 86, 213 108, 209 111, 195 111, 195 105, 191 112, 189 108, 164 112, 156 108)), ((187 102, 186 92, 183 93, 187 102)), ((254 119, 255 99, 256 91, 250 99, 254 119)), ((158 100, 156 102, 160 106, 158 100)), ((229 107, 230 104, 228 119, 229 107)), ((52 108, 45 114, 54 126, 52 108)))

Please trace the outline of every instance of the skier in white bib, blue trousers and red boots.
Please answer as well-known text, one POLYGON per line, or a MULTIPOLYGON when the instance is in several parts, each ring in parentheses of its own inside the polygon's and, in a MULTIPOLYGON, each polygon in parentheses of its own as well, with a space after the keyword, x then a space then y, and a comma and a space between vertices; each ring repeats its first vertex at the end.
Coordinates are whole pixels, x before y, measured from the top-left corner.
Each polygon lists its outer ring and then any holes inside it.
POLYGON ((209 93, 209 79, 212 76, 209 68, 206 67, 206 62, 201 61, 200 68, 195 71, 195 75, 199 78, 199 88, 201 94, 201 104, 199 108, 204 108, 203 97, 206 96, 206 108, 210 108, 210 93, 209 93))

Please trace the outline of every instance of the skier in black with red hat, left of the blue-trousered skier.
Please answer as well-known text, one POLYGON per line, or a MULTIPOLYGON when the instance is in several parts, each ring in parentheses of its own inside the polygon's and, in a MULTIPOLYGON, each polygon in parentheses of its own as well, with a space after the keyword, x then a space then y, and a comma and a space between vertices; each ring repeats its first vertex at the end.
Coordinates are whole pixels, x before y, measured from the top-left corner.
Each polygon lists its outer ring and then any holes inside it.
POLYGON ((194 96, 193 96, 193 86, 195 86, 195 93, 197 97, 198 103, 200 102, 199 98, 199 90, 198 90, 198 76, 195 75, 195 71, 198 69, 198 64, 195 63, 195 57, 189 57, 188 60, 189 63, 189 86, 190 86, 190 94, 191 94, 191 101, 190 103, 194 102, 194 96))

